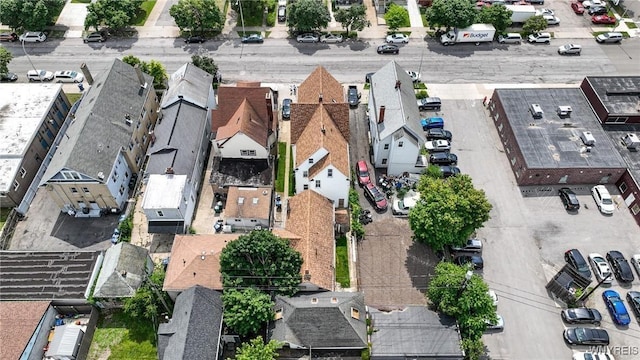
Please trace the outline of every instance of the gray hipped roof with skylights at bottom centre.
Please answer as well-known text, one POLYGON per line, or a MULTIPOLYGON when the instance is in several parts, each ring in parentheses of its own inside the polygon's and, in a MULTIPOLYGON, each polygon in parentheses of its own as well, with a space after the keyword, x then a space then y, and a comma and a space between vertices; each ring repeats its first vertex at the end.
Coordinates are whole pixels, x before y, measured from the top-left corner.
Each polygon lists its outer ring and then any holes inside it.
POLYGON ((276 297, 276 317, 270 339, 312 349, 367 347, 362 293, 323 292, 276 297))

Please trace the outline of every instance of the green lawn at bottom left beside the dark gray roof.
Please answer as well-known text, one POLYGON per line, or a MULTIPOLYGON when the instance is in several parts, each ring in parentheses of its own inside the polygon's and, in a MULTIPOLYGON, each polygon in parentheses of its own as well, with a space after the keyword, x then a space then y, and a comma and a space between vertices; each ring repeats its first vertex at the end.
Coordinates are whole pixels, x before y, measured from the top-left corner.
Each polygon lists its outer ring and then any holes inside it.
POLYGON ((100 315, 88 359, 105 353, 109 360, 155 360, 155 330, 150 322, 131 320, 123 311, 100 315))

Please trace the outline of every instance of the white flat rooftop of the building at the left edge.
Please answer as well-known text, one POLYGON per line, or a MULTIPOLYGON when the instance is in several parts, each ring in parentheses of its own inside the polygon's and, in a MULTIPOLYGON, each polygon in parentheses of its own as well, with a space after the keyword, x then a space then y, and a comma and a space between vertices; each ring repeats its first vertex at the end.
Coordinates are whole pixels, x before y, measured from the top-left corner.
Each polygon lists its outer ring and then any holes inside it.
POLYGON ((13 186, 25 151, 61 90, 60 84, 0 84, 0 192, 13 186))

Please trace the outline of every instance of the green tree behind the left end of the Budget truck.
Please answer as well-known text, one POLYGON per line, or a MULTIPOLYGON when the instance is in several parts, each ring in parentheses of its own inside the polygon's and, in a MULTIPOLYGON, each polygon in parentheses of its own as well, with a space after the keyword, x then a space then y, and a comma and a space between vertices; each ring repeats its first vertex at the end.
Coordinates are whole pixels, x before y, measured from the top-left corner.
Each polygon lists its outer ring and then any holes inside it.
POLYGON ((432 29, 466 28, 476 21, 478 10, 469 0, 434 0, 425 17, 432 29))

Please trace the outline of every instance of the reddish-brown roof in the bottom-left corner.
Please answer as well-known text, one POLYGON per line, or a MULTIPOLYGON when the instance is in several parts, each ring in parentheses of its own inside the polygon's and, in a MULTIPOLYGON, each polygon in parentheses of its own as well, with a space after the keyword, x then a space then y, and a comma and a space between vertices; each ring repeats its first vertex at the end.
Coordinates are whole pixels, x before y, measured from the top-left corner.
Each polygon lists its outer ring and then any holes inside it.
POLYGON ((0 302, 0 359, 19 359, 49 301, 0 302))

